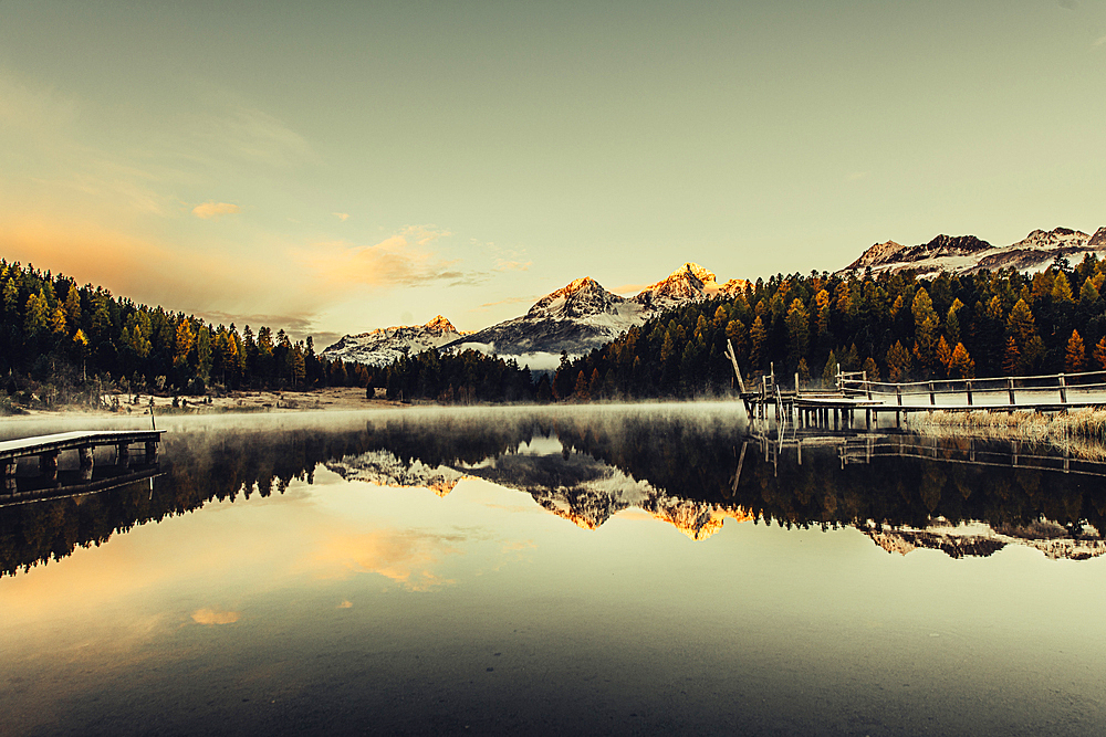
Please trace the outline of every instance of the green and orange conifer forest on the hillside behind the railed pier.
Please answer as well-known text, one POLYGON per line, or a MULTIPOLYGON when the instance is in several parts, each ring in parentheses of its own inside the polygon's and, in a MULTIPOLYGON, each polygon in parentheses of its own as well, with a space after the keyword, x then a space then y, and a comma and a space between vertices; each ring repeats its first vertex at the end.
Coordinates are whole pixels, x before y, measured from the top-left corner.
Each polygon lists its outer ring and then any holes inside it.
MULTIPOLYGON (((774 369, 799 373, 804 386, 832 383, 838 365, 894 382, 1099 370, 1106 368, 1104 282, 1106 264, 1094 256, 1075 267, 1058 259, 1031 275, 779 274, 732 298, 677 307, 587 355, 562 356, 551 379, 536 378, 533 396, 728 396, 727 340, 744 377, 774 369)), ((421 354, 378 380, 389 396, 456 401, 458 388, 472 386, 478 373, 446 371, 445 362, 421 354)))

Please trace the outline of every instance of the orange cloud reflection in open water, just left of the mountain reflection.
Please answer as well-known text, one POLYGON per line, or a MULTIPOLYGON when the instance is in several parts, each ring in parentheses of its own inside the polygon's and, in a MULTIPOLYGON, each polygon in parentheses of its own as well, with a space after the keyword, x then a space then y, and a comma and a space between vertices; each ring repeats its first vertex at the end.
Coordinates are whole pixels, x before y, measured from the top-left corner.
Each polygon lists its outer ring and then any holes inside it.
POLYGON ((320 578, 348 578, 379 573, 408 591, 431 591, 455 583, 432 568, 460 552, 463 535, 436 535, 420 530, 379 529, 327 538, 315 555, 320 578))

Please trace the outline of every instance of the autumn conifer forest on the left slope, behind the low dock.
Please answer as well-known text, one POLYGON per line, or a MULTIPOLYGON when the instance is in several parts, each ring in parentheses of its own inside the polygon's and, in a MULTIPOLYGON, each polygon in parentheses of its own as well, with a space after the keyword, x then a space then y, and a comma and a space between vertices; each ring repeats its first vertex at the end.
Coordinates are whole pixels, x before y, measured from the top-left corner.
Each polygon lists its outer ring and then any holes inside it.
POLYGON ((249 325, 239 333, 77 286, 0 260, 0 399, 8 406, 98 403, 106 392, 204 394, 211 388, 366 387, 358 364, 315 355, 312 339, 249 325))

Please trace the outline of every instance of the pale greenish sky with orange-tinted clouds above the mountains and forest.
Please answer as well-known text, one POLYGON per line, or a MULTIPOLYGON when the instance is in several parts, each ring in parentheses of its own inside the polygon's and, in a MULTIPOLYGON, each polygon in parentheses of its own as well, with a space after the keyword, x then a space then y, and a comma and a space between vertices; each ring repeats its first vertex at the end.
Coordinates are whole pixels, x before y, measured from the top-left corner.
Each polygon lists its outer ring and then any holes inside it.
POLYGON ((0 0, 0 255, 316 343, 1093 232, 1104 161, 1089 0, 0 0))

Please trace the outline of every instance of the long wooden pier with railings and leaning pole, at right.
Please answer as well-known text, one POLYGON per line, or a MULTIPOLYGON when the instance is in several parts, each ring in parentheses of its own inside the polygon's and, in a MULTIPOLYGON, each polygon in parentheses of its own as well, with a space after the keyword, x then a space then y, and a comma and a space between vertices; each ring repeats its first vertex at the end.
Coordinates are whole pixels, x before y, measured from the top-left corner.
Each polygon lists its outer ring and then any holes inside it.
POLYGON ((733 357, 741 401, 751 421, 791 423, 795 428, 847 430, 864 413, 864 429, 878 425, 880 414, 894 414, 895 425, 912 412, 1060 412, 1082 407, 1106 407, 1106 371, 1004 376, 983 379, 935 379, 893 383, 869 381, 863 371, 843 372, 838 366, 835 387, 804 390, 796 373, 784 386, 769 373, 747 386, 733 357))

